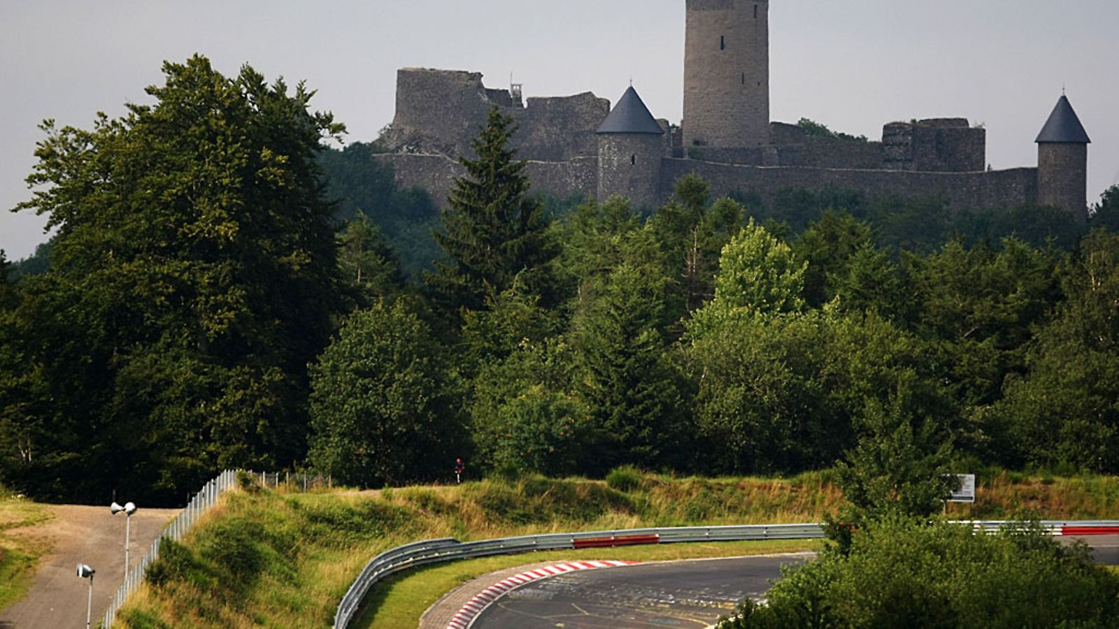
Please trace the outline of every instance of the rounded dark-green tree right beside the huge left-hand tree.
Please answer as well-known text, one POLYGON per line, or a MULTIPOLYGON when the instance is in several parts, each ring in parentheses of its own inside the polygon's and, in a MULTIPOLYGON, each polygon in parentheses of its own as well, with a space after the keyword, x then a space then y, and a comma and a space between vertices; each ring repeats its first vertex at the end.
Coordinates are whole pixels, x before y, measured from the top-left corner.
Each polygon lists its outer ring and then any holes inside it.
POLYGON ((441 354, 403 301, 348 317, 311 367, 311 463, 364 487, 431 478, 455 438, 441 354))

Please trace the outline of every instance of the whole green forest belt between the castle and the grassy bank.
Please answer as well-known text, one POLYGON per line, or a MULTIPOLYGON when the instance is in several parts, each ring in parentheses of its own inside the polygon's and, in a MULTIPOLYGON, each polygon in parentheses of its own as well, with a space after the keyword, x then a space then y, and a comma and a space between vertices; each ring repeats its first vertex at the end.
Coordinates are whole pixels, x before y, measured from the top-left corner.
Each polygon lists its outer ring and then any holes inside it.
POLYGON ((659 207, 551 198, 493 111, 443 204, 376 142, 329 145, 302 84, 163 71, 153 104, 44 123, 16 209, 55 235, 0 254, 10 488, 175 504, 224 468, 384 487, 455 458, 1119 472, 1119 187, 1087 225, 695 177, 659 207))

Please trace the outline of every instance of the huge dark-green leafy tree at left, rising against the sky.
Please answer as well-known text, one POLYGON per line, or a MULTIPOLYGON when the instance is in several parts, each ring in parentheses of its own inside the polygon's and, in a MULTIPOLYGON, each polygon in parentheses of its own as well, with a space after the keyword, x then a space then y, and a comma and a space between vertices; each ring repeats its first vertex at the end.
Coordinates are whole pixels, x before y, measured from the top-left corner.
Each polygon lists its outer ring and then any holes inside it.
POLYGON ((19 206, 57 232, 12 322, 0 412, 27 448, 0 466, 40 496, 167 500, 303 454, 307 364, 341 304, 314 156, 342 126, 247 66, 163 73, 92 131, 44 123, 19 206))

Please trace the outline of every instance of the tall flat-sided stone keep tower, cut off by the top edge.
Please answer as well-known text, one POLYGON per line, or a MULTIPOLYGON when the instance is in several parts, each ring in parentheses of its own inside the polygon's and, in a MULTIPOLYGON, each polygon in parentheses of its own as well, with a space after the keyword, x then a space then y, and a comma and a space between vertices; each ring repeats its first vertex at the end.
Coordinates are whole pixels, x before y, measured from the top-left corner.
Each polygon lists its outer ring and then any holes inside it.
POLYGON ((684 145, 770 143, 769 0, 687 0, 684 145))

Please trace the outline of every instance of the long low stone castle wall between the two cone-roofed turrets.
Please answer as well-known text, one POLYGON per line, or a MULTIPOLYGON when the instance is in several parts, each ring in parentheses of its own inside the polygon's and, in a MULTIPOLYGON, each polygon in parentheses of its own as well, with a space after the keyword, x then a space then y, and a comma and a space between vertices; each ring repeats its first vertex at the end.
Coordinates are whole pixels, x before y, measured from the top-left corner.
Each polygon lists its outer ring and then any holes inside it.
POLYGON ((755 191, 765 203, 782 188, 816 190, 833 186, 861 190, 872 197, 942 195, 957 207, 1010 207, 1037 203, 1035 168, 946 173, 730 166, 680 159, 665 159, 661 163, 661 200, 670 198, 676 180, 688 173, 709 181, 715 196, 734 190, 755 191))

